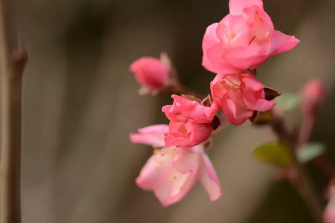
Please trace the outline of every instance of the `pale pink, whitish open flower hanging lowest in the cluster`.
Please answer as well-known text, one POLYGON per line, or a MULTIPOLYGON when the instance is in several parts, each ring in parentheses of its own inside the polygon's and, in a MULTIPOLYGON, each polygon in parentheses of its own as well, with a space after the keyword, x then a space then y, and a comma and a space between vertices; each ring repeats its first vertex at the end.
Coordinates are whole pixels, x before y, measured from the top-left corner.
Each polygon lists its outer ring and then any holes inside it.
POLYGON ((139 134, 130 135, 133 143, 152 143, 163 147, 156 148, 145 163, 136 179, 137 186, 153 191, 164 207, 182 200, 197 181, 200 181, 211 201, 219 199, 222 195, 220 182, 204 153, 203 145, 192 148, 164 147, 163 138, 168 129, 167 125, 152 125, 139 129, 139 134))

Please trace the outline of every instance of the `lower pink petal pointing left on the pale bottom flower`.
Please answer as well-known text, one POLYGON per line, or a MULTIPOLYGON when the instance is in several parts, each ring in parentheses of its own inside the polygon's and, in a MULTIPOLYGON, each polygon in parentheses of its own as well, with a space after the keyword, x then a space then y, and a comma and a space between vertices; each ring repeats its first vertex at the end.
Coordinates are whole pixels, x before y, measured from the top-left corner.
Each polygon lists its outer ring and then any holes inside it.
POLYGON ((132 143, 164 147, 164 134, 135 134, 130 133, 129 139, 132 143))

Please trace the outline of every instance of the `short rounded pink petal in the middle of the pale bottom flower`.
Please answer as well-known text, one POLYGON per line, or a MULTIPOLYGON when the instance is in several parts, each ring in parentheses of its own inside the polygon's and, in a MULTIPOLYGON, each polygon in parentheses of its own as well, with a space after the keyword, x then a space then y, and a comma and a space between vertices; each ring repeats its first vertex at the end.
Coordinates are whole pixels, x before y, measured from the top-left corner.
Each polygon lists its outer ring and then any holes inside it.
POLYGON ((192 153, 187 149, 180 148, 172 160, 172 164, 177 171, 182 174, 187 174, 188 172, 192 174, 197 174, 199 169, 199 162, 202 156, 202 151, 199 153, 192 153))

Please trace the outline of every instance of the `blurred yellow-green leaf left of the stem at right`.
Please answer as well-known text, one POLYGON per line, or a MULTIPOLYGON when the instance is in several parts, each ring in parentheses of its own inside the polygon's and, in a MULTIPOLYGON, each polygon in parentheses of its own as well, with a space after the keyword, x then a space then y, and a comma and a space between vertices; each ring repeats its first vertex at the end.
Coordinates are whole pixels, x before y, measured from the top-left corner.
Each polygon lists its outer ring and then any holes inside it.
POLYGON ((258 146, 253 156, 260 162, 277 166, 288 166, 291 158, 287 148, 280 142, 270 142, 258 146))

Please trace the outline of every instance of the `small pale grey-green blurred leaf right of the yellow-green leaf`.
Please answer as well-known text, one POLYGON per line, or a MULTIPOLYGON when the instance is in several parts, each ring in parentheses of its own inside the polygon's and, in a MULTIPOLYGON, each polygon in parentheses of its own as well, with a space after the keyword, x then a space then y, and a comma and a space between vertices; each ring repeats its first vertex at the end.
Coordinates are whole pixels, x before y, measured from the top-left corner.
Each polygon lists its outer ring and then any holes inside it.
POLYGON ((326 147, 321 142, 310 142, 302 147, 297 152, 297 158, 300 162, 306 163, 315 157, 325 153, 326 147))

